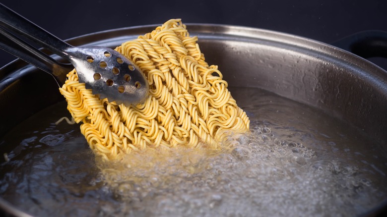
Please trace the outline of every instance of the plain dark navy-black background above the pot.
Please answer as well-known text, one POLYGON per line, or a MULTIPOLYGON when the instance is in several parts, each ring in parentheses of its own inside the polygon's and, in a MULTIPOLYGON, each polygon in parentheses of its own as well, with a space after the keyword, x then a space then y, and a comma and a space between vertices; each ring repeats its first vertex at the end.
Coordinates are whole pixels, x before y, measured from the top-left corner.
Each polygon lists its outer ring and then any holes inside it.
MULTIPOLYGON (((161 24, 257 27, 332 43, 365 30, 387 31, 387 0, 1 0, 61 39, 161 24)), ((15 59, 0 51, 0 67, 15 59)))

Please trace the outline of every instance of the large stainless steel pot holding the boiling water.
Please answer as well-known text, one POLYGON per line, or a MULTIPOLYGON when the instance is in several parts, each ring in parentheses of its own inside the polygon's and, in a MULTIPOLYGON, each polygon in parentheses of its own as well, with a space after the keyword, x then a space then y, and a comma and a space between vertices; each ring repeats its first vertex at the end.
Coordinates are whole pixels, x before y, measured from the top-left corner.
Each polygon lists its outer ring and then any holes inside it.
MULTIPOLYGON (((114 48, 154 28, 115 29, 67 42, 114 48)), ((198 36, 206 61, 219 65, 229 86, 273 92, 342 119, 380 144, 387 143, 384 69, 337 47, 294 35, 229 25, 190 24, 187 28, 198 36)), ((64 100, 49 74, 21 60, 1 68, 0 80, 0 137, 37 111, 64 100)), ((13 148, 1 145, 2 152, 13 148)), ((385 205, 376 204, 367 214, 382 212, 385 205)), ((3 200, 0 207, 20 215, 3 200)))

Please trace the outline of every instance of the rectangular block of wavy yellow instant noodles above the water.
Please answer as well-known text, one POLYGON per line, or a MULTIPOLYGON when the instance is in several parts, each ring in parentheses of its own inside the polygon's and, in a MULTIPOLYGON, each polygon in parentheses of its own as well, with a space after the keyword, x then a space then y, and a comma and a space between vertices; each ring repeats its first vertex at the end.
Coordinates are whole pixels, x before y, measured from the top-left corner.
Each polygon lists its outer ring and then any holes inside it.
POLYGON ((215 65, 208 65, 186 25, 171 19, 116 51, 145 74, 149 96, 135 106, 99 99, 78 82, 75 70, 60 91, 90 148, 116 159, 147 147, 218 148, 227 133, 247 132, 250 120, 227 89, 215 65))

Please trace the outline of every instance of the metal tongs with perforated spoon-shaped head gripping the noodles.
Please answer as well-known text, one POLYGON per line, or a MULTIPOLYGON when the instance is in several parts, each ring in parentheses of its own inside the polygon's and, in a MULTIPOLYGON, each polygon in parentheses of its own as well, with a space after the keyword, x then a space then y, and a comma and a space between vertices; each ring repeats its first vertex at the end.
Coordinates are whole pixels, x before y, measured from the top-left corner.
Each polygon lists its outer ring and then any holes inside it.
POLYGON ((100 98, 118 104, 141 103, 149 85, 140 69, 124 55, 104 47, 73 47, 0 3, 0 48, 54 76, 59 87, 75 68, 80 83, 100 98), (22 39, 24 38, 24 40, 22 39), (25 39, 69 60, 64 64, 25 39))

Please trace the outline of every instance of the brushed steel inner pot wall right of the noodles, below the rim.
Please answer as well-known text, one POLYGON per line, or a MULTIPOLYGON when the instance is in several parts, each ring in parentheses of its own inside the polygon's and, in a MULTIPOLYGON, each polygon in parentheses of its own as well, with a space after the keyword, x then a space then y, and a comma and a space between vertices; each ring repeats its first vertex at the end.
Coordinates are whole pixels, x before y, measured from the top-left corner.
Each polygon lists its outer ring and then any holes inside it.
POLYGON ((262 88, 322 109, 386 144, 386 74, 378 74, 382 70, 365 60, 345 53, 333 58, 281 44, 210 40, 202 44, 211 46, 206 57, 219 65, 230 86, 262 88))

